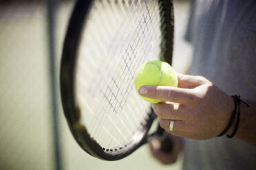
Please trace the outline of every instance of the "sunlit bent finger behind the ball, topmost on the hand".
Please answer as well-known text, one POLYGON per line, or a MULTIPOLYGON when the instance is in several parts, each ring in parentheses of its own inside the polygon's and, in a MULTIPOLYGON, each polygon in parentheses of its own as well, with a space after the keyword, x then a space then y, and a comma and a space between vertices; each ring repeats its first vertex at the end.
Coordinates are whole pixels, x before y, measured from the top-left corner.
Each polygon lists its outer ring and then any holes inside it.
POLYGON ((184 75, 184 74, 178 73, 177 77, 178 77, 179 88, 195 88, 202 84, 209 83, 209 81, 202 76, 184 75))

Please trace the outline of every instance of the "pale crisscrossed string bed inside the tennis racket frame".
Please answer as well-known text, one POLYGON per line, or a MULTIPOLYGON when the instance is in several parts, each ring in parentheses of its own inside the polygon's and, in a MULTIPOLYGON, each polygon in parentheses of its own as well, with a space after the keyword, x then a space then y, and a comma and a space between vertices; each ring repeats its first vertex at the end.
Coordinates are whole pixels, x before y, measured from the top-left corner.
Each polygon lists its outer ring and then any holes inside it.
POLYGON ((160 55, 159 9, 157 1, 128 0, 96 1, 92 8, 78 57, 78 105, 87 130, 105 148, 125 145, 148 119, 149 104, 133 80, 140 64, 160 55))

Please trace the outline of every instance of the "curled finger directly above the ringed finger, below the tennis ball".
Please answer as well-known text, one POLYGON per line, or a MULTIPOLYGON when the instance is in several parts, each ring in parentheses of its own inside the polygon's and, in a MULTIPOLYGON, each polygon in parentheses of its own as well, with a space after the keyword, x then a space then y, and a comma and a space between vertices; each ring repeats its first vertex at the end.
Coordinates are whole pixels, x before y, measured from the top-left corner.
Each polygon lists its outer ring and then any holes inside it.
POLYGON ((160 104, 152 104, 152 108, 161 119, 184 120, 189 117, 186 106, 180 104, 162 102, 160 104))

